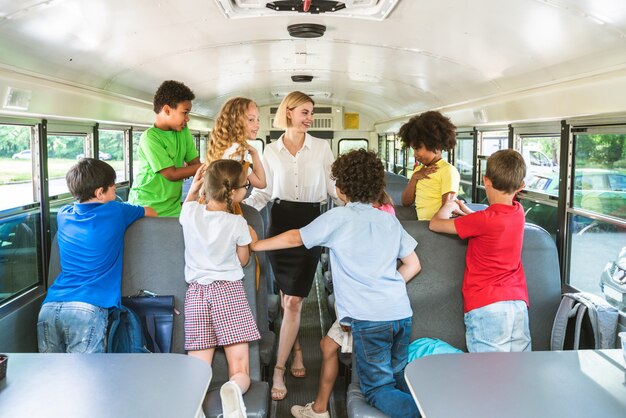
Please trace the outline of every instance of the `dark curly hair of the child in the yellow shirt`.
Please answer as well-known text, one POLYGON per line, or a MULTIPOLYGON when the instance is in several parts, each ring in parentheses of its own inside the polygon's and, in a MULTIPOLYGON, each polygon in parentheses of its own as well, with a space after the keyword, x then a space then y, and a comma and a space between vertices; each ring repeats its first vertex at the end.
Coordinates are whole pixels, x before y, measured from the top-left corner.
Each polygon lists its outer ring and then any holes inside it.
POLYGON ((398 131, 405 147, 429 151, 448 151, 456 145, 456 126, 440 112, 429 111, 413 116, 398 131))

